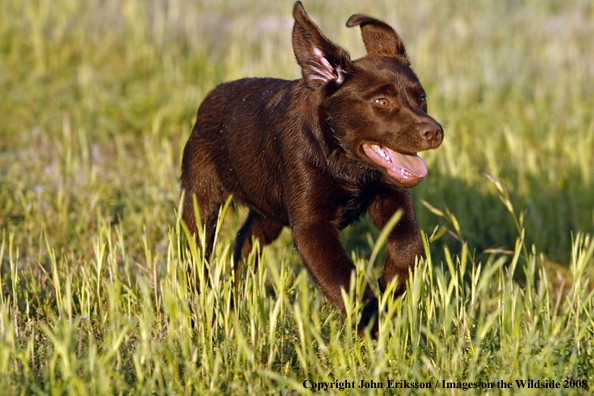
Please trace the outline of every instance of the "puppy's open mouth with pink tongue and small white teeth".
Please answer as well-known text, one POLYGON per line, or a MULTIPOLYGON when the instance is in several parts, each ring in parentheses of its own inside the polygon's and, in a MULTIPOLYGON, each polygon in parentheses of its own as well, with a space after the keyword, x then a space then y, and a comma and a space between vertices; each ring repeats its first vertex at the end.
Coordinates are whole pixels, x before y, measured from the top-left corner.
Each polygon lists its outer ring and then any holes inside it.
POLYGON ((373 162, 405 185, 416 184, 427 174, 427 165, 417 153, 399 153, 375 143, 363 143, 363 150, 373 162))

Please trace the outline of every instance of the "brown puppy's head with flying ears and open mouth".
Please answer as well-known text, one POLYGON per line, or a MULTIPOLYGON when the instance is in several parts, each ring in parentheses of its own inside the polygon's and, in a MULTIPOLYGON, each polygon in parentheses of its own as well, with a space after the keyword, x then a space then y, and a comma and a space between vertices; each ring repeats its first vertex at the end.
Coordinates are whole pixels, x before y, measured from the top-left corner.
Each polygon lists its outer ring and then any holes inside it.
POLYGON ((389 25, 356 14, 367 55, 352 61, 307 16, 293 10, 293 50, 305 85, 321 95, 327 125, 345 153, 377 169, 400 187, 414 187, 427 174, 417 152, 437 148, 441 125, 427 114, 427 98, 410 68, 404 44, 389 25))

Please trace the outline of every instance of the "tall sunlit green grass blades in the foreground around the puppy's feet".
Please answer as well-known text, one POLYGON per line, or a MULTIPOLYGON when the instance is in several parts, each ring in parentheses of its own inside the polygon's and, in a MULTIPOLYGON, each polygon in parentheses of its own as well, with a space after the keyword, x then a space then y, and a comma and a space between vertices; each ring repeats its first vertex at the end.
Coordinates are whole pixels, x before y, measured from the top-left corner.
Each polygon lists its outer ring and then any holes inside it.
POLYGON ((365 259, 354 257, 357 290, 345 294, 349 314, 343 318, 305 272, 293 274, 286 260, 269 258, 267 250, 250 255, 246 276, 236 286, 228 278, 229 242, 218 245, 208 263, 199 249, 183 258, 182 235, 177 222, 161 265, 144 239, 146 263, 134 271, 126 265, 132 259, 121 231, 103 223, 93 241, 94 258, 82 263, 60 258, 46 246, 50 268, 39 265, 37 273, 21 269, 12 234, 4 235, 1 249, 10 272, 2 274, 7 292, 0 301, 2 389, 307 393, 321 382, 387 387, 389 380, 405 380, 428 388, 407 390, 413 393, 432 394, 455 384, 512 393, 522 391, 517 380, 561 386, 575 381, 557 391, 564 394, 591 386, 594 292, 584 276, 594 253, 589 236, 575 237, 572 286, 566 290, 550 286, 534 252, 523 267, 524 287, 513 280, 521 270, 523 237, 509 263, 495 253, 476 263, 464 245, 457 254, 446 249, 446 262, 436 265, 427 244, 427 260, 411 274, 405 297, 394 299, 392 284, 381 298, 380 336, 373 341, 351 330, 360 308, 358 291, 372 279, 365 259), (511 389, 499 389, 498 381, 511 383, 511 389))

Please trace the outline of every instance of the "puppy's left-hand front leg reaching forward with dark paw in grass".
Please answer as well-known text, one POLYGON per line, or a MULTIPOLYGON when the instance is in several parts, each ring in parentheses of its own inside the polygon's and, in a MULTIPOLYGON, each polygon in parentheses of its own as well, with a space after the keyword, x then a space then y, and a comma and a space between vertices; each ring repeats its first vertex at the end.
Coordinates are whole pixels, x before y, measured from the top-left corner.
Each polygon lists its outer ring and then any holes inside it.
MULTIPOLYGON (((355 266, 342 247, 336 225, 328 220, 296 222, 292 226, 292 233, 295 248, 324 294, 345 312, 340 290, 344 289, 348 293, 355 266)), ((369 286, 363 294, 363 302, 365 308, 357 326, 360 334, 377 313, 377 299, 369 286)), ((377 333, 377 318, 371 333, 377 333)))

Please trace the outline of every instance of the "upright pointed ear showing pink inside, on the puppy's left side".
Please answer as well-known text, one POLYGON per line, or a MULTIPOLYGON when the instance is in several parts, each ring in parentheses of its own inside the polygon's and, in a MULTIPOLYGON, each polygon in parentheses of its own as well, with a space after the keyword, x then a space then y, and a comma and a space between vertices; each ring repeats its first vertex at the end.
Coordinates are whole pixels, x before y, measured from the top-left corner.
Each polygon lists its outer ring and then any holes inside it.
POLYGON ((348 52, 324 36, 300 1, 295 3, 293 17, 293 51, 305 85, 317 89, 331 81, 342 84, 345 75, 352 70, 348 52))

